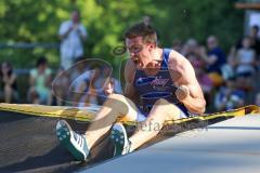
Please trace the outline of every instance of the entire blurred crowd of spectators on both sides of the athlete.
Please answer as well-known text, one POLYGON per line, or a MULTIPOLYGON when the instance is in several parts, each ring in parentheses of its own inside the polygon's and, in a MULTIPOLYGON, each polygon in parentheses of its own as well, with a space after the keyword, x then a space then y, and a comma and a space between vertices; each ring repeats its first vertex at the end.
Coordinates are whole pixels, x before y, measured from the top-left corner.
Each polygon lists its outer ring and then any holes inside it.
MULTIPOLYGON (((87 39, 87 29, 80 24, 79 12, 72 13, 72 19, 64 22, 58 30, 61 38, 60 69, 51 69, 48 59, 42 56, 29 71, 26 98, 18 92, 17 74, 12 64, 1 63, 0 102, 31 103, 42 105, 86 106, 101 105, 105 101, 103 86, 107 82, 110 69, 88 66, 79 63, 66 72, 74 63, 82 59, 82 41, 87 39), (53 79, 57 79, 52 88, 53 79)), ((144 17, 145 23, 150 18, 144 17)), ((148 21, 148 22, 147 22, 148 21)), ((148 25, 148 24, 147 24, 148 25)), ((183 54, 193 65, 197 79, 207 99, 208 111, 233 109, 248 104, 260 106, 259 75, 260 74, 260 40, 259 27, 252 26, 248 36, 237 38, 229 53, 221 49, 221 42, 216 36, 206 38, 206 44, 197 40, 174 40, 172 49, 183 54)), ((122 93, 118 79, 113 80, 115 91, 122 93)))

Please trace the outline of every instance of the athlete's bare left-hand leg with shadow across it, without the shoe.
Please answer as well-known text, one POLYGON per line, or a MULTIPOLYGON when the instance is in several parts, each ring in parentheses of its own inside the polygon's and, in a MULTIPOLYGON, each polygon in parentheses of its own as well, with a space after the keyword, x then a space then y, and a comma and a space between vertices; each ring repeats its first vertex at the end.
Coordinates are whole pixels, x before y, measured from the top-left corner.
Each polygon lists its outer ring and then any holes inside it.
POLYGON ((110 94, 86 132, 89 148, 109 131, 118 117, 135 120, 136 116, 138 109, 132 101, 119 94, 110 94))

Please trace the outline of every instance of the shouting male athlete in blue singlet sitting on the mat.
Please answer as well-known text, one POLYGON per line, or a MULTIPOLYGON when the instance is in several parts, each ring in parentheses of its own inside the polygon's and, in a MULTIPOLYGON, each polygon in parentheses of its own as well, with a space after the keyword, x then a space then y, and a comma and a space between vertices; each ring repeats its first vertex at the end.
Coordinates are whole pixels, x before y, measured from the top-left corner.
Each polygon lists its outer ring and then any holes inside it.
POLYGON ((129 28, 125 38, 130 54, 125 95, 114 94, 107 84, 107 101, 84 134, 74 132, 64 120, 56 124, 57 138, 77 160, 86 160, 93 144, 109 130, 114 155, 120 156, 156 136, 165 121, 205 111, 203 91, 185 57, 158 48, 155 30, 145 24, 129 28), (128 137, 123 125, 116 123, 118 118, 140 122, 142 129, 128 137))

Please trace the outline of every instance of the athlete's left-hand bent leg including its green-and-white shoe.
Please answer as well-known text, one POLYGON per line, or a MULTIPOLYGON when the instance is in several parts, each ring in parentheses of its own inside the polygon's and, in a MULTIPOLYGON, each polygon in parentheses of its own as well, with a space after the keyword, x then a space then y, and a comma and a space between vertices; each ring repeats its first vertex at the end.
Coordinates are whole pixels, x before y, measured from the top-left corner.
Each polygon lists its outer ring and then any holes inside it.
POLYGON ((60 120, 56 124, 56 136, 75 159, 86 160, 93 144, 110 129, 119 116, 133 120, 136 115, 136 107, 130 99, 122 95, 112 94, 90 123, 84 135, 75 133, 66 121, 60 120))

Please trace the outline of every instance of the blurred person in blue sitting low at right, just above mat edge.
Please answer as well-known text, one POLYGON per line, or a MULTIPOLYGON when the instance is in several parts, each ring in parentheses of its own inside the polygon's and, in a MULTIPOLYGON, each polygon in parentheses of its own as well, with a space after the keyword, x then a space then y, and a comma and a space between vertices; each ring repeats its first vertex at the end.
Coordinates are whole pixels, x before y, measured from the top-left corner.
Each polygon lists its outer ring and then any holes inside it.
POLYGON ((221 86, 214 97, 214 106, 218 111, 230 110, 245 104, 245 93, 237 89, 235 77, 229 78, 225 85, 221 86))

